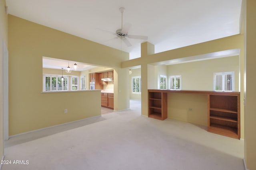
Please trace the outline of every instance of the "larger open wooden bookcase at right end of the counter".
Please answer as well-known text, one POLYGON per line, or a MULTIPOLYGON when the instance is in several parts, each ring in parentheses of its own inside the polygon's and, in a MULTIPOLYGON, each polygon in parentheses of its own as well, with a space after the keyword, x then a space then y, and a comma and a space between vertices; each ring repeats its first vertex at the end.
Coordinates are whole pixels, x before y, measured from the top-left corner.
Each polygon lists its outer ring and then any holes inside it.
POLYGON ((240 94, 208 95, 208 131, 240 139, 240 94))

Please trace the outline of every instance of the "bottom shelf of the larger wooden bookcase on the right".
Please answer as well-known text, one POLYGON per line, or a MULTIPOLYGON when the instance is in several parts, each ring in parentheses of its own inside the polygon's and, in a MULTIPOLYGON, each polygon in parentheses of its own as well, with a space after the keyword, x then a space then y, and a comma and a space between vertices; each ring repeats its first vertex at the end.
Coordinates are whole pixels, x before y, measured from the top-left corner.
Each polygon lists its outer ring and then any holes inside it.
POLYGON ((233 137, 236 139, 239 138, 237 128, 233 128, 233 127, 228 127, 228 126, 223 126, 218 124, 211 124, 210 127, 208 128, 208 131, 212 133, 217 133, 219 135, 233 137))

